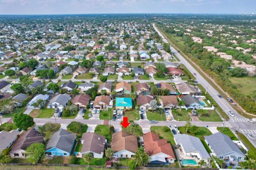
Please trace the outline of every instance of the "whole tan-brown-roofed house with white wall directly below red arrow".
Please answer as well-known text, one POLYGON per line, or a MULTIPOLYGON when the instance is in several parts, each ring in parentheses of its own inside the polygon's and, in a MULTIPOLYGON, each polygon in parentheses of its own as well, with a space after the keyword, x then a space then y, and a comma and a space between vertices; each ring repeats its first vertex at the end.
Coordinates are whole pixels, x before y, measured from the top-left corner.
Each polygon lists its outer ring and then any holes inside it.
POLYGON ((112 135, 111 149, 114 151, 113 157, 131 158, 138 150, 137 136, 124 131, 116 132, 112 135))

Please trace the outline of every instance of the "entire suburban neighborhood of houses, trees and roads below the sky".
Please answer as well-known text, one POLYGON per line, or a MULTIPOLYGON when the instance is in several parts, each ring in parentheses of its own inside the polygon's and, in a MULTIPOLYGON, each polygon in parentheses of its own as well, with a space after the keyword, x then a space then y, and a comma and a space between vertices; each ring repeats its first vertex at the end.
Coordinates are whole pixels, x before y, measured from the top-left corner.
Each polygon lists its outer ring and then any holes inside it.
POLYGON ((256 169, 255 22, 0 16, 0 168, 256 169))

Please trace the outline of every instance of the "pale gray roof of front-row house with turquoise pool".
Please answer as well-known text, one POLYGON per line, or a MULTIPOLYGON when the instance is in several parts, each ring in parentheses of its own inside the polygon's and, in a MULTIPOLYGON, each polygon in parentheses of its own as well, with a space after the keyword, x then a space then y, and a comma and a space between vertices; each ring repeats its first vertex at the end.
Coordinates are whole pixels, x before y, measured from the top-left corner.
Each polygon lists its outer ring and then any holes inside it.
POLYGON ((174 135, 174 139, 177 142, 177 144, 181 143, 185 152, 198 151, 202 158, 210 158, 208 152, 204 148, 199 138, 193 137, 188 134, 178 133, 174 135))

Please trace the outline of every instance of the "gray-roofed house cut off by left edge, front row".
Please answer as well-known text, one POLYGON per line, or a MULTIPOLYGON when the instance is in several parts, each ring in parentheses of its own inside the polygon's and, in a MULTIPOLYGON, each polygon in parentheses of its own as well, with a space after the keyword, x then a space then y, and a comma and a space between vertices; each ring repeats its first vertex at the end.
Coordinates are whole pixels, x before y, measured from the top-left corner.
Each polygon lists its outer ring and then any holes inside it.
POLYGON ((19 133, 20 132, 17 130, 12 130, 10 132, 0 132, 0 153, 2 153, 4 149, 10 148, 13 145, 13 143, 17 140, 19 133))

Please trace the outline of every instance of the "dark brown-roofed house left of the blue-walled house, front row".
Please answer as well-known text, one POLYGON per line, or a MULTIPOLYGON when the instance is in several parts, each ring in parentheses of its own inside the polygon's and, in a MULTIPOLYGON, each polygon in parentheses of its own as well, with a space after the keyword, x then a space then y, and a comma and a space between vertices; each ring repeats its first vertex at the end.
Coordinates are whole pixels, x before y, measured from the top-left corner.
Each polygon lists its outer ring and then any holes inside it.
POLYGON ((43 143, 44 137, 35 129, 26 131, 15 142, 9 152, 12 158, 26 158, 26 149, 33 143, 43 143))

